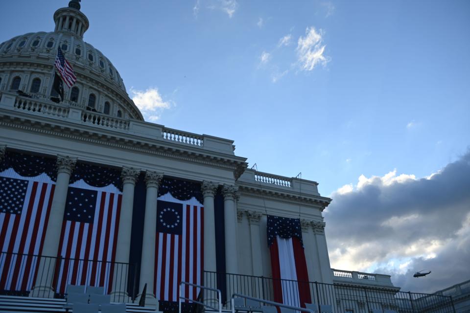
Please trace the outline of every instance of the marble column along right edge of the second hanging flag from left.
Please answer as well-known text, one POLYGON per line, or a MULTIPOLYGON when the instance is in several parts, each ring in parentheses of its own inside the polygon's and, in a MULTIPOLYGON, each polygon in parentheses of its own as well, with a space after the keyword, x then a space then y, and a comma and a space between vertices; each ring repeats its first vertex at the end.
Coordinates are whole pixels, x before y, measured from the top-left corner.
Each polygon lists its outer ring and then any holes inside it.
POLYGON ((118 240, 116 243, 116 262, 113 291, 118 301, 127 300, 127 273, 129 264, 129 251, 131 248, 132 211, 134 207, 134 188, 140 170, 123 167, 122 177, 122 200, 119 217, 118 240), (121 264, 124 263, 124 264, 121 264))

